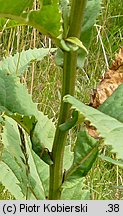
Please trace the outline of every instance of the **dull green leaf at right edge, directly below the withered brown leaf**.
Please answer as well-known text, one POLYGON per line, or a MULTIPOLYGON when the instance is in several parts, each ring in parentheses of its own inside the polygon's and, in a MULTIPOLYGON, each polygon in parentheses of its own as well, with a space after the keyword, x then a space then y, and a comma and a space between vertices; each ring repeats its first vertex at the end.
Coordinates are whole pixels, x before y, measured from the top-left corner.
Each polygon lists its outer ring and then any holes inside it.
POLYGON ((123 122, 123 84, 98 107, 101 112, 123 122))

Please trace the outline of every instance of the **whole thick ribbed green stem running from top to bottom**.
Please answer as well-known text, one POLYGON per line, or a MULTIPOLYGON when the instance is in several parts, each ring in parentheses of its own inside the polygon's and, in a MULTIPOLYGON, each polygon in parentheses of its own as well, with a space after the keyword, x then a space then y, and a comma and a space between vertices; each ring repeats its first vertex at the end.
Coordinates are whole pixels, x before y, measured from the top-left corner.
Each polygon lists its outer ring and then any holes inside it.
MULTIPOLYGON (((67 37, 80 37, 86 1, 87 0, 72 1, 70 27, 67 37)), ((61 197, 63 156, 68 132, 61 131, 59 129, 59 125, 66 122, 70 115, 70 105, 63 102, 63 97, 66 94, 74 96, 76 82, 76 64, 77 52, 64 52, 61 107, 52 149, 52 159, 54 164, 50 166, 49 199, 51 200, 57 200, 61 197)))

